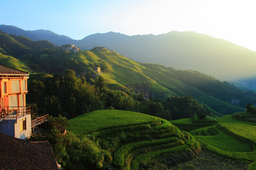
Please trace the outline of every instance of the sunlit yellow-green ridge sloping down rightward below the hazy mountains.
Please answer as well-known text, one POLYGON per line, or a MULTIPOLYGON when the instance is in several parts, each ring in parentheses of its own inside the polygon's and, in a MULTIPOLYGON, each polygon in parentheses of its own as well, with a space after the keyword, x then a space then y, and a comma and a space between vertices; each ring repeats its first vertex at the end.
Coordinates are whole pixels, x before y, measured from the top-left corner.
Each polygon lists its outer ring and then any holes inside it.
POLYGON ((168 69, 152 64, 140 64, 116 52, 107 50, 81 51, 71 54, 70 58, 83 64, 92 74, 95 72, 90 68, 90 64, 97 63, 98 60, 105 61, 109 71, 101 73, 101 76, 111 85, 137 85, 158 98, 189 94, 201 104, 207 105, 219 116, 245 110, 183 83, 168 69))

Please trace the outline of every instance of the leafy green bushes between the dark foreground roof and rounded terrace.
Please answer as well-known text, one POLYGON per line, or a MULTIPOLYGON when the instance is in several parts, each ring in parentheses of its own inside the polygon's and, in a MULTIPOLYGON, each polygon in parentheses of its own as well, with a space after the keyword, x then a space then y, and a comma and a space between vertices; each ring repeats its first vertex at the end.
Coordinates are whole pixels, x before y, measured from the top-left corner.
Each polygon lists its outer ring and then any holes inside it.
POLYGON ((98 142, 94 142, 88 137, 78 137, 72 132, 68 132, 64 137, 55 126, 47 130, 49 131, 48 133, 31 135, 29 140, 49 141, 52 145, 55 158, 65 169, 101 169, 103 162, 112 160, 111 154, 107 150, 101 149, 98 142))

